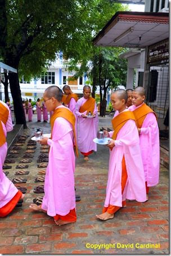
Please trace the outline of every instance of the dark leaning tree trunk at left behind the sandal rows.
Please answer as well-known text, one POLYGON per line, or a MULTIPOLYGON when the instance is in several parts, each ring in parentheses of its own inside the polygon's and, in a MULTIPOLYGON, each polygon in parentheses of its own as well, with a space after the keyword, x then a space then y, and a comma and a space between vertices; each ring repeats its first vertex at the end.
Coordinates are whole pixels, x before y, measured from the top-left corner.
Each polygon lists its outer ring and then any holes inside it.
POLYGON ((19 83, 19 76, 17 73, 9 73, 10 90, 13 99, 13 110, 16 118, 16 125, 23 125, 24 129, 27 128, 24 108, 22 105, 21 90, 19 83))

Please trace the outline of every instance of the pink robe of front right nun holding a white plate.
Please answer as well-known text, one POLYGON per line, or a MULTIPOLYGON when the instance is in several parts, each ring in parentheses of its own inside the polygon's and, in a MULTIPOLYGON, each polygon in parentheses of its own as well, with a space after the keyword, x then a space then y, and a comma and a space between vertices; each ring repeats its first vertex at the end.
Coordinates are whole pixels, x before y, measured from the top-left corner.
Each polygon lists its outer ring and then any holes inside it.
MULTIPOLYGON (((125 109, 125 111, 128 111, 125 109)), ((119 113, 119 112, 118 112, 119 113)), ((110 137, 113 135, 110 131, 110 137)), ((106 188, 105 207, 122 207, 122 201, 146 201, 145 175, 140 151, 140 139, 136 122, 128 120, 119 130, 115 147, 110 151, 109 174, 106 188), (122 159, 125 157, 128 179, 122 195, 122 159)))

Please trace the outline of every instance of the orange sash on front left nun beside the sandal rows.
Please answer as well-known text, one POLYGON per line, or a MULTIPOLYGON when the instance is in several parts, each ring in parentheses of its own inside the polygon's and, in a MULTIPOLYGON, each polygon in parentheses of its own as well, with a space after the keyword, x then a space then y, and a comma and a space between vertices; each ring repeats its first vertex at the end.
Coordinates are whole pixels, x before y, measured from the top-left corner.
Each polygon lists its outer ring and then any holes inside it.
MULTIPOLYGON (((52 131, 53 131, 53 126, 54 126, 54 123, 55 123, 55 120, 56 120, 57 117, 65 118, 73 126, 74 139, 75 139, 75 149, 76 149, 76 153, 77 153, 77 156, 78 156, 77 139, 76 139, 76 135, 75 135, 75 116, 74 116, 74 114, 68 108, 57 108, 57 109, 55 109, 55 111, 53 112, 53 114, 51 116, 51 120, 50 120, 51 126, 52 126, 52 131)), ((51 139, 52 139, 52 132, 51 132, 51 139)))

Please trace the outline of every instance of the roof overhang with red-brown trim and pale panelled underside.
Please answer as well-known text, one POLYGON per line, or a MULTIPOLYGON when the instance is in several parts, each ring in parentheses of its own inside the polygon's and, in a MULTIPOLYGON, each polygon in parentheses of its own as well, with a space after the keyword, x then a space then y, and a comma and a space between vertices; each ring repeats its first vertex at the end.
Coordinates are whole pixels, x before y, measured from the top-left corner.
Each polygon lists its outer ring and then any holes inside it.
POLYGON ((165 12, 116 12, 92 40, 94 46, 145 48, 169 38, 165 12))

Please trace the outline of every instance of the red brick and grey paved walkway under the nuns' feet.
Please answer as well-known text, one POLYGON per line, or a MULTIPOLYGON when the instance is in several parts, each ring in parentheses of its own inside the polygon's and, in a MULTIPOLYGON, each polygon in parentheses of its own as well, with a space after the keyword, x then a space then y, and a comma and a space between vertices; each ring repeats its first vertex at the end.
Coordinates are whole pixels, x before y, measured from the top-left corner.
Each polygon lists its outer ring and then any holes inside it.
MULTIPOLYGON (((20 147, 17 158, 9 171, 8 178, 15 176, 16 165, 25 154, 28 141, 34 135, 36 127, 42 127, 43 133, 50 133, 50 123, 38 123, 36 115, 33 122, 28 122, 24 135, 29 135, 20 147)), ((100 117, 100 127, 111 127, 111 117, 100 117)), ((164 149, 164 162, 168 161, 167 148, 164 149)), ((127 201, 127 208, 120 209, 115 218, 102 222, 96 218, 104 206, 109 149, 97 145, 97 152, 84 161, 79 155, 76 160, 75 187, 81 200, 77 202, 77 222, 66 226, 56 226, 52 217, 45 213, 29 209, 36 194, 33 188, 39 169, 40 155, 37 143, 30 158, 29 175, 21 175, 26 183, 16 186, 27 187, 22 207, 15 208, 6 218, 0 218, 0 253, 1 254, 168 254, 169 253, 169 171, 160 165, 160 182, 150 189, 150 200, 140 203, 127 201)), ((10 153, 10 152, 8 152, 10 153)), ((163 154, 164 154, 163 153, 163 154)), ((163 158, 164 158, 163 157, 163 158)), ((161 160, 161 159, 160 159, 161 160)))

